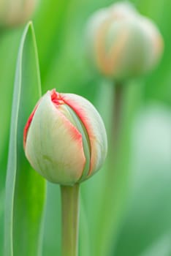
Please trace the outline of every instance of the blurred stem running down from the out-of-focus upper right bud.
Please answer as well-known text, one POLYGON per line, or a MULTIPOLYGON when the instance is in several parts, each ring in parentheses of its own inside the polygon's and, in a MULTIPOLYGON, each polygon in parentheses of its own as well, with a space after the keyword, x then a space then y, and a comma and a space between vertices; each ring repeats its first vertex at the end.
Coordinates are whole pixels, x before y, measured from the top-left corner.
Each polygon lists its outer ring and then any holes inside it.
POLYGON ((118 170, 118 158, 121 151, 121 133, 123 132, 123 97, 125 86, 115 83, 113 86, 113 106, 111 110, 111 123, 108 140, 107 173, 102 198, 102 215, 99 218, 98 238, 94 255, 108 255, 110 246, 118 227, 119 212, 121 211, 121 179, 122 171, 118 170), (105 212, 104 210, 105 209, 105 212), (105 218, 105 220, 104 220, 105 218))

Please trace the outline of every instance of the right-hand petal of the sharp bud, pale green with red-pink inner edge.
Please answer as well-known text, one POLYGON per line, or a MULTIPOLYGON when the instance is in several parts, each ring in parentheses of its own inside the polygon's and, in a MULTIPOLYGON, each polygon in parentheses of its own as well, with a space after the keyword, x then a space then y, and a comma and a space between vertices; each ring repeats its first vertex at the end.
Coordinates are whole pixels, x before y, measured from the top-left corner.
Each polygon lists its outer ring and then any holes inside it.
POLYGON ((107 135, 102 118, 91 102, 76 94, 61 94, 66 105, 75 111, 82 121, 91 144, 91 166, 88 176, 91 176, 102 166, 107 154, 107 135))

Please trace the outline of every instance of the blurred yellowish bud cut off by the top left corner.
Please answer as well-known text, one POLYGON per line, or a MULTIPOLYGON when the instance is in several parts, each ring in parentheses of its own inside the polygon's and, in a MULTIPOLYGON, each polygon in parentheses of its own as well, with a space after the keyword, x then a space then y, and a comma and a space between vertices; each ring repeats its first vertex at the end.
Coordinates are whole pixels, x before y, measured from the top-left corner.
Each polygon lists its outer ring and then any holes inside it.
POLYGON ((33 14, 37 0, 0 0, 0 26, 18 26, 33 14))

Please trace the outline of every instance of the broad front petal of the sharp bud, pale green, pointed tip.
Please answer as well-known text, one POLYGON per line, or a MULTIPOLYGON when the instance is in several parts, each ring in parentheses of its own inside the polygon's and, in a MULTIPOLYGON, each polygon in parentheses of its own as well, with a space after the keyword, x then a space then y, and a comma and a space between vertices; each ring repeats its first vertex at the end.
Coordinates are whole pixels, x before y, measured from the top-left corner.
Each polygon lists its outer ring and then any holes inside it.
POLYGON ((75 184, 86 164, 82 135, 53 104, 50 91, 42 97, 32 118, 26 157, 47 180, 64 185, 75 184))

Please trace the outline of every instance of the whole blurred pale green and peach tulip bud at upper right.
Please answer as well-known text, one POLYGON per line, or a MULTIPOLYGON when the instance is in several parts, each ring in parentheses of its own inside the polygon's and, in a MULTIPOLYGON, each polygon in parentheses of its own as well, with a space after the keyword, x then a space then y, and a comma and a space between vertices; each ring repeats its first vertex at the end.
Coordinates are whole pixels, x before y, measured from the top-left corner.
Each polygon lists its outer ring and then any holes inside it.
POLYGON ((153 69, 163 39, 152 20, 129 3, 113 4, 88 22, 88 55, 103 75, 123 80, 153 69))

